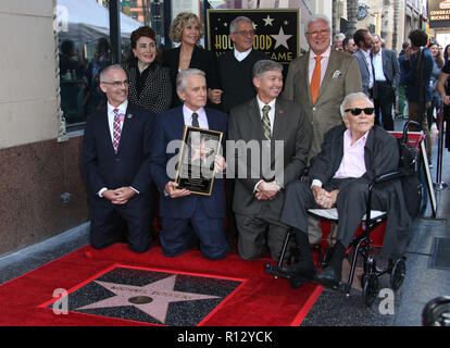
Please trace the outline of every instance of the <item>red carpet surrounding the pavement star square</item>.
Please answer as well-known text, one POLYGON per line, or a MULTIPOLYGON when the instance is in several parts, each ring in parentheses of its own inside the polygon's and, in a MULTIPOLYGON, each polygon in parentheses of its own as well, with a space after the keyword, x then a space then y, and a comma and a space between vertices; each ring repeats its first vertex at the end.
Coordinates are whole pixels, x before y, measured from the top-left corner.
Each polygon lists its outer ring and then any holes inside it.
POLYGON ((228 254, 225 260, 209 261, 198 250, 165 258, 159 247, 137 254, 122 244, 104 250, 84 247, 0 286, 0 325, 154 325, 71 310, 67 314, 55 314, 53 311, 51 303, 58 299, 58 294, 53 295, 55 289, 72 294, 99 275, 120 266, 152 274, 164 272, 193 279, 209 277, 217 282, 235 282, 236 288, 232 288, 198 325, 298 326, 323 288, 304 284, 299 289, 292 289, 286 279, 275 279, 264 272, 267 261, 245 261, 236 253, 228 254))

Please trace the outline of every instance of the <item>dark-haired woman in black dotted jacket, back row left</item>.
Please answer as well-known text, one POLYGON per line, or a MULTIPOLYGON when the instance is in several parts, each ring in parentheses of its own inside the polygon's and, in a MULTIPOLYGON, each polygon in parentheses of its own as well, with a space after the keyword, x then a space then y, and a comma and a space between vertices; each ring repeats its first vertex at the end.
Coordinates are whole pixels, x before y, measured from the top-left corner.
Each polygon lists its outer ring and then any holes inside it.
POLYGON ((132 33, 132 51, 123 63, 128 74, 128 100, 154 113, 172 103, 172 85, 167 67, 163 67, 155 42, 155 33, 141 26, 132 33))

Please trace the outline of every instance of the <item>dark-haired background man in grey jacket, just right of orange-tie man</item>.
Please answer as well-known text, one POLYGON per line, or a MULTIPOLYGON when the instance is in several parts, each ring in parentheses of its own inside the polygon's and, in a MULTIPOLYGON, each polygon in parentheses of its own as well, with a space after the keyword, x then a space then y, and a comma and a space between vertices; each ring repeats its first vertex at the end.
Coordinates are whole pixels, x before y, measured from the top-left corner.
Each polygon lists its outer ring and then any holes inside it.
POLYGON ((372 35, 367 29, 358 29, 353 35, 353 40, 358 46, 358 51, 353 53, 353 57, 360 64, 362 91, 372 98, 374 88, 374 69, 371 60, 372 35))

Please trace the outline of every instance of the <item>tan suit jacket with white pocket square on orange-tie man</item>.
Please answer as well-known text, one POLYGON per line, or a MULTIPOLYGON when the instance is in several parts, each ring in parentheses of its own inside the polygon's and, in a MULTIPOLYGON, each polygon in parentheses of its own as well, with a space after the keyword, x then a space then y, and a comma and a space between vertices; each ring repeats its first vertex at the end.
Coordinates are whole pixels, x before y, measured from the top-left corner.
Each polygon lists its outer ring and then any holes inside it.
POLYGON ((283 98, 301 105, 312 126, 313 138, 310 158, 321 150, 324 134, 341 124, 339 107, 343 98, 361 91, 361 73, 358 61, 348 53, 332 50, 328 66, 321 84, 317 100, 312 104, 309 80, 310 53, 295 59, 289 64, 283 98))

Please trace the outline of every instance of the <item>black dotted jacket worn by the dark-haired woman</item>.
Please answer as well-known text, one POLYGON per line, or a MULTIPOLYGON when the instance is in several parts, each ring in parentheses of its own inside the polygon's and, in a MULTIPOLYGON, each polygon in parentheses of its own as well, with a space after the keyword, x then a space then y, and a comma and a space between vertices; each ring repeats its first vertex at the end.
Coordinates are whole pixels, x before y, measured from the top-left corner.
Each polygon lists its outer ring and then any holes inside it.
POLYGON ((137 60, 124 63, 123 67, 128 74, 128 100, 130 102, 154 113, 163 112, 171 107, 172 98, 175 96, 172 96, 172 84, 167 67, 153 63, 149 67, 142 91, 139 96, 137 91, 137 78, 139 75, 137 60))

